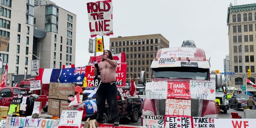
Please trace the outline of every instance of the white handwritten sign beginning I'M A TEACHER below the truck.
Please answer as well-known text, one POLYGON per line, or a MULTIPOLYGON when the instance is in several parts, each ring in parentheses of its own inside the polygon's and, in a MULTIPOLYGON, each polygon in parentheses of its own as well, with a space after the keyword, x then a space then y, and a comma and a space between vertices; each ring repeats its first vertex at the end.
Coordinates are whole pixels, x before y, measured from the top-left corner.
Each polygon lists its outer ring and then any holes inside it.
POLYGON ((164 116, 142 116, 143 126, 146 128, 164 128, 164 116))

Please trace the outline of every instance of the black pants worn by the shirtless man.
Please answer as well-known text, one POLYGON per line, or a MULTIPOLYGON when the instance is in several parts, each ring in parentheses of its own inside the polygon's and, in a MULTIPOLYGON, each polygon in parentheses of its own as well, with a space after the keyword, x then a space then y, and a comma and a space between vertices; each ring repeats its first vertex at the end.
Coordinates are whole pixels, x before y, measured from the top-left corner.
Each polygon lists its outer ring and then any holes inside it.
POLYGON ((110 115, 112 120, 118 121, 119 113, 118 113, 118 103, 117 103, 117 88, 116 83, 101 83, 97 92, 96 92, 96 102, 97 102, 97 121, 103 121, 103 114, 106 99, 108 102, 108 108, 110 109, 110 115))

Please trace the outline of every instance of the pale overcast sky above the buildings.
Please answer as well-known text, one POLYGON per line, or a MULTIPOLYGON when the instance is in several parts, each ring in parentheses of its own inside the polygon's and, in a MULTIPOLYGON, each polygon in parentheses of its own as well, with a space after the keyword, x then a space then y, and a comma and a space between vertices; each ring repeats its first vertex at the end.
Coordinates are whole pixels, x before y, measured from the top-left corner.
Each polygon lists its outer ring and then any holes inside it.
MULTIPOLYGON (((51 0, 76 14, 76 67, 88 64, 90 38, 86 3, 99 0, 51 0)), ((194 40, 210 58, 211 69, 224 72, 223 60, 228 52, 227 11, 234 5, 254 4, 255 0, 112 0, 114 36, 109 38, 162 34, 170 47, 180 47, 183 40, 194 40)), ((101 36, 97 36, 101 38, 101 36)), ((94 38, 93 38, 94 39, 94 38)), ((100 55, 100 54, 97 54, 100 55)))

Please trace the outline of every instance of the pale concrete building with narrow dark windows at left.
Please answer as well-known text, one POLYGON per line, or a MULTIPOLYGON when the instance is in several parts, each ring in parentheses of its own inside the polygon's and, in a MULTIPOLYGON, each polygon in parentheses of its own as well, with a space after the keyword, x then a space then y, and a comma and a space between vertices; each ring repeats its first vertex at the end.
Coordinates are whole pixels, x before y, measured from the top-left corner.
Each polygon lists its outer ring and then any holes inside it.
POLYGON ((76 15, 49 0, 1 0, 0 35, 10 38, 7 51, 0 51, 0 74, 7 63, 8 74, 17 75, 31 74, 35 59, 40 68, 75 63, 76 15))

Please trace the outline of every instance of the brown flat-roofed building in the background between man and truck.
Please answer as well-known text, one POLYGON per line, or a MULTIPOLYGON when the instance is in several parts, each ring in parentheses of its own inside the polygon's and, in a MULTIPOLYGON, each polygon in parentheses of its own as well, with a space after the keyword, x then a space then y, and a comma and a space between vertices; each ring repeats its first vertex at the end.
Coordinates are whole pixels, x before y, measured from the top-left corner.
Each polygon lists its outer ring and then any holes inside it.
POLYGON ((169 41, 161 34, 110 38, 110 51, 114 54, 126 53, 126 81, 134 76, 139 84, 140 72, 145 71, 150 80, 150 64, 160 48, 169 48, 169 41), (135 74, 135 75, 134 75, 135 74))

